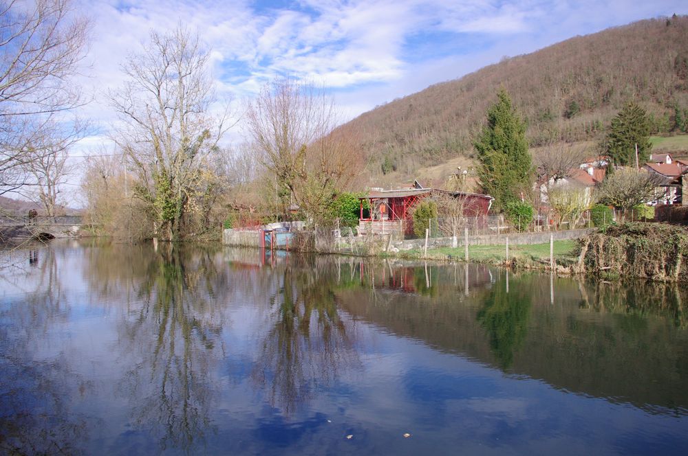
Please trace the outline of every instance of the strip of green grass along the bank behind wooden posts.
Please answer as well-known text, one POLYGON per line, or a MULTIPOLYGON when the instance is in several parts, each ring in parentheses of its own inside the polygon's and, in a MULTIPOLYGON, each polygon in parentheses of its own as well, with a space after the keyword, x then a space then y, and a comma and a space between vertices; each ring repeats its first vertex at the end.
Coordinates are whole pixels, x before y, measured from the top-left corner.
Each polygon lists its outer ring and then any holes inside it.
MULTIPOLYGON (((574 240, 556 240, 554 244, 555 259, 559 262, 570 262, 574 260, 574 250, 576 241, 574 240)), ((422 257, 423 251, 421 249, 413 249, 400 254, 407 254, 413 257, 422 257)), ((442 255, 451 255, 452 258, 458 260, 464 259, 464 248, 458 247, 453 249, 451 247, 442 247, 440 249, 428 249, 429 257, 438 257, 442 255)), ((506 245, 471 245, 469 246, 469 260, 475 262, 499 263, 503 262, 506 255, 506 245)), ((550 244, 532 244, 532 245, 510 245, 510 258, 526 258, 528 260, 539 261, 550 258, 550 244)))

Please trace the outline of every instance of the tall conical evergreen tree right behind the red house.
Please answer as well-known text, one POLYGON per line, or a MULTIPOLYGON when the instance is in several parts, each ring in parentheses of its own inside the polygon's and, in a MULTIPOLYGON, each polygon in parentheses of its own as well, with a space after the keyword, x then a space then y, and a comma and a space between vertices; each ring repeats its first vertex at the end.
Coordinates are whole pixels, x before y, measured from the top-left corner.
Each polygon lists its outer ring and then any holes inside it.
POLYGON ((487 124, 473 142, 480 164, 477 174, 483 192, 495 198, 502 209, 508 201, 533 185, 533 164, 528 154, 526 124, 511 104, 504 89, 497 103, 487 111, 487 124))

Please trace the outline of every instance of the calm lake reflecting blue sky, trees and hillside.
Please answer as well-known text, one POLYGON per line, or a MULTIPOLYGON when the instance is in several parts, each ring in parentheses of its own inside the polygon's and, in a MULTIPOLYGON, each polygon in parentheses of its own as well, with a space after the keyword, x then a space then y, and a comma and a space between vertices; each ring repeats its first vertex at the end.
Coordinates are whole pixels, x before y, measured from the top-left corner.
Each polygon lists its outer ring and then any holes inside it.
POLYGON ((688 454, 688 293, 209 245, 0 254, 0 452, 688 454))

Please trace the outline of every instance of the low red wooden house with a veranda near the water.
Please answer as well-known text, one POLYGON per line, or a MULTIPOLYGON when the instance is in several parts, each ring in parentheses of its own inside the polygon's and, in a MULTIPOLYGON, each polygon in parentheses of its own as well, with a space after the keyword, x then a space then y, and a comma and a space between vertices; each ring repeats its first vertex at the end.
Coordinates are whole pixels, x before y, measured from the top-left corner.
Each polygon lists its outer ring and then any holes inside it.
MULTIPOLYGON (((418 182, 416 181, 416 184, 418 182)), ((414 185, 414 188, 401 190, 380 190, 373 189, 367 196, 359 198, 361 212, 359 216, 360 231, 365 231, 366 225, 374 232, 386 232, 385 223, 391 229, 394 224, 399 224, 400 231, 405 233, 413 232, 413 222, 411 214, 413 207, 421 201, 429 198, 440 198, 451 196, 463 201, 462 212, 466 217, 483 216, 488 213, 494 198, 489 195, 451 192, 437 188, 423 188, 421 185, 414 185), (368 201, 368 216, 364 216, 363 202, 368 201)))

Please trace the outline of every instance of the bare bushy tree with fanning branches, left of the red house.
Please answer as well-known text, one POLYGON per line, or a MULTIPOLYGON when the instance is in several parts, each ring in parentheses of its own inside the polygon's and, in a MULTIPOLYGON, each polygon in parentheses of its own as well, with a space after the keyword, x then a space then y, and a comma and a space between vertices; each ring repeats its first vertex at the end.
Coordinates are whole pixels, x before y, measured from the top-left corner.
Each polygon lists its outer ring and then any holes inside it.
POLYGON ((285 214, 294 201, 318 217, 363 166, 356 134, 335 128, 334 100, 312 86, 290 79, 267 85, 248 107, 247 122, 285 214))

